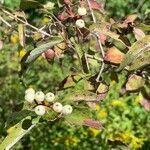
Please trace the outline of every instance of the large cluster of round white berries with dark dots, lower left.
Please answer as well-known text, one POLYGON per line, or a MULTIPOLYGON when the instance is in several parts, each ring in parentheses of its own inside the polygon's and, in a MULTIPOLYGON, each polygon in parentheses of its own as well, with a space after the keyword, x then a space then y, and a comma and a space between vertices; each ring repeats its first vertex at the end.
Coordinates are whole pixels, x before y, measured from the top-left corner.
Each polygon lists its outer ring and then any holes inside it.
MULTIPOLYGON (((44 94, 42 91, 35 92, 34 89, 29 88, 25 91, 25 100, 29 103, 37 103, 37 106, 34 108, 34 111, 37 115, 42 116, 46 113, 46 108, 44 101, 51 103, 53 111, 61 113, 64 115, 71 114, 73 109, 71 105, 62 105, 60 102, 55 101, 55 95, 51 92, 44 94)), ((50 107, 51 108, 51 107, 50 107)))

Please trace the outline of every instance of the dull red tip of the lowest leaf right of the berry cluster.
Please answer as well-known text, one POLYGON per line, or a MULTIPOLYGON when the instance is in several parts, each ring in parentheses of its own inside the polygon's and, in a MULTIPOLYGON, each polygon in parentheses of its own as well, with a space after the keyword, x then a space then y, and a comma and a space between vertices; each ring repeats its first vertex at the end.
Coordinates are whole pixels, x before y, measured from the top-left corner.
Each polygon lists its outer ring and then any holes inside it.
POLYGON ((83 125, 92 127, 98 130, 102 128, 102 123, 98 120, 93 120, 93 119, 85 119, 83 121, 83 125))

